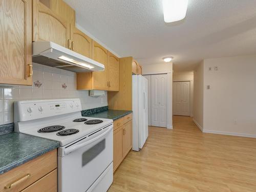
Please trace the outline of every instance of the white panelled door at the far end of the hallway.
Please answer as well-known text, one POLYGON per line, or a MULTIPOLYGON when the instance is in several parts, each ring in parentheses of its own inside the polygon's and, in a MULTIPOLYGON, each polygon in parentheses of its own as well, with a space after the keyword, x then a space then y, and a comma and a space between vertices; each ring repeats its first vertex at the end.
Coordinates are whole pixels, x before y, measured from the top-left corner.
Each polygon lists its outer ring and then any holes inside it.
POLYGON ((190 81, 174 82, 173 91, 173 114, 190 116, 190 81))

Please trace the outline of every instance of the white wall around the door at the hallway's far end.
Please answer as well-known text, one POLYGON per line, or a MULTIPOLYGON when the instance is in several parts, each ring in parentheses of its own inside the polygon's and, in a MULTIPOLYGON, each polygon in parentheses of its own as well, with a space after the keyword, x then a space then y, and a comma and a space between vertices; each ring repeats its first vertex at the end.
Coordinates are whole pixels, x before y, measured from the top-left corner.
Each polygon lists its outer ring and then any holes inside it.
MULTIPOLYGON (((190 81, 190 116, 193 117, 194 111, 194 71, 183 71, 173 73, 173 81, 190 81)), ((174 96, 173 96, 174 98, 174 96)), ((173 108, 174 112, 174 108, 173 108)))

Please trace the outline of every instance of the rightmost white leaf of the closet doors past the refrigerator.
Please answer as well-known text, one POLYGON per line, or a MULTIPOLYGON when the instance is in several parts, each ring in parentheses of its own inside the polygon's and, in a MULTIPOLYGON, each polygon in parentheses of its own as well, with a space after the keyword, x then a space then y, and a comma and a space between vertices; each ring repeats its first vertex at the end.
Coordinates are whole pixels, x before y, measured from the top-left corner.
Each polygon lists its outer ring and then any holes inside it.
POLYGON ((167 126, 167 74, 159 75, 159 126, 167 126))

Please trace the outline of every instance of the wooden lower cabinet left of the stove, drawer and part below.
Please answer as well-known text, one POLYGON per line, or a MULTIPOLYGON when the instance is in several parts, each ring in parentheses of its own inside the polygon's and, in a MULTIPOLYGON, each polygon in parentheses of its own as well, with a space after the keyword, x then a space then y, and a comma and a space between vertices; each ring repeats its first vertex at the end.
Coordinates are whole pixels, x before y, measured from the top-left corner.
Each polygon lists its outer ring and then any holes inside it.
POLYGON ((57 150, 0 175, 0 192, 6 191, 57 192, 57 150))

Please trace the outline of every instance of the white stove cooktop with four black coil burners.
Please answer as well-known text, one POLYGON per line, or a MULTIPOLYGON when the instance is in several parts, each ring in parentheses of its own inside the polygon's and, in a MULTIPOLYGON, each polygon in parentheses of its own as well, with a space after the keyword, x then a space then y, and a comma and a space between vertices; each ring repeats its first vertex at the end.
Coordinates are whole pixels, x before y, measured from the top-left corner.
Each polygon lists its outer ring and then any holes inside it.
POLYGON ((72 116, 61 115, 61 118, 51 117, 38 119, 29 124, 23 122, 18 122, 17 124, 20 133, 59 141, 60 146, 65 146, 113 123, 112 119, 83 117, 77 114, 72 116), (38 127, 38 125, 40 126, 38 127))

